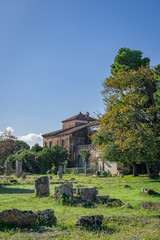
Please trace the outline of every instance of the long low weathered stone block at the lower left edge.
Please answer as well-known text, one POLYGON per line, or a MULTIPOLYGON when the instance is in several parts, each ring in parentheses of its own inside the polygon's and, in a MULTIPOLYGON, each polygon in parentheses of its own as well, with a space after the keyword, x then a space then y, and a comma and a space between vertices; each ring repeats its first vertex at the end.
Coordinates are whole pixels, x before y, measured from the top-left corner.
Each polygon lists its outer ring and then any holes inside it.
POLYGON ((0 212, 0 224, 16 227, 35 226, 37 225, 37 218, 32 211, 11 209, 0 212))

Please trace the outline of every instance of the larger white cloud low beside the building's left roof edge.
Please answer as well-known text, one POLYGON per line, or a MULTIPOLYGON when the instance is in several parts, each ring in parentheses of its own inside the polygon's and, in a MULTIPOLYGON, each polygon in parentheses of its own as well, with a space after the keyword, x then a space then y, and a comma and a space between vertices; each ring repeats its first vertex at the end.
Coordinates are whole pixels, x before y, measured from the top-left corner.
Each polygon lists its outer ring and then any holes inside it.
POLYGON ((25 136, 19 136, 18 140, 28 143, 30 146, 33 146, 35 143, 38 143, 42 146, 42 136, 41 134, 29 133, 25 136))

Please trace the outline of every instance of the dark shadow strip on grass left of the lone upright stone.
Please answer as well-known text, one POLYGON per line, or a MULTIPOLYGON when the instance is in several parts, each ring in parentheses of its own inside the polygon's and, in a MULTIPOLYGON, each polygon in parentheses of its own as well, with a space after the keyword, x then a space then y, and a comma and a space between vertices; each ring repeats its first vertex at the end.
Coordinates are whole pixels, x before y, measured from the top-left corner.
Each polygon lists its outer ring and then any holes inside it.
POLYGON ((29 194, 34 193, 34 190, 31 189, 23 189, 23 188, 6 188, 0 186, 0 194, 29 194))

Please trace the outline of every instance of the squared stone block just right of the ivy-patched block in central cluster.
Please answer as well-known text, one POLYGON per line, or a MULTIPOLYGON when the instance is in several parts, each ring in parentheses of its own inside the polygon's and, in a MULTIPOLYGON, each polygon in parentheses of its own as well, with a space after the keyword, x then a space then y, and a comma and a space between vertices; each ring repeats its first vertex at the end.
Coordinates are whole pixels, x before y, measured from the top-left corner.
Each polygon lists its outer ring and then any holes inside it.
POLYGON ((76 188, 76 195, 80 195, 85 201, 96 201, 98 191, 95 187, 89 188, 76 188))

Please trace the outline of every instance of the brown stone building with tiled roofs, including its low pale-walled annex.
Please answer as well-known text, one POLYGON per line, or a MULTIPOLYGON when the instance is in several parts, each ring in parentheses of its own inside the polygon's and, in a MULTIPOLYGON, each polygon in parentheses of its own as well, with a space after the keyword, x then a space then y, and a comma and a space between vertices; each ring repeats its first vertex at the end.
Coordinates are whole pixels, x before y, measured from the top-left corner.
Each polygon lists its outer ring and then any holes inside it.
MULTIPOLYGON (((97 131, 99 124, 96 119, 89 116, 89 113, 81 112, 71 118, 62 121, 62 129, 43 134, 43 146, 51 148, 59 145, 69 151, 72 167, 84 167, 84 161, 79 154, 81 149, 90 150, 87 168, 94 168, 98 162, 98 170, 107 170, 111 174, 116 174, 119 165, 101 161, 101 153, 92 144, 91 136, 97 131)), ((123 170, 121 166, 120 170, 123 170)))

